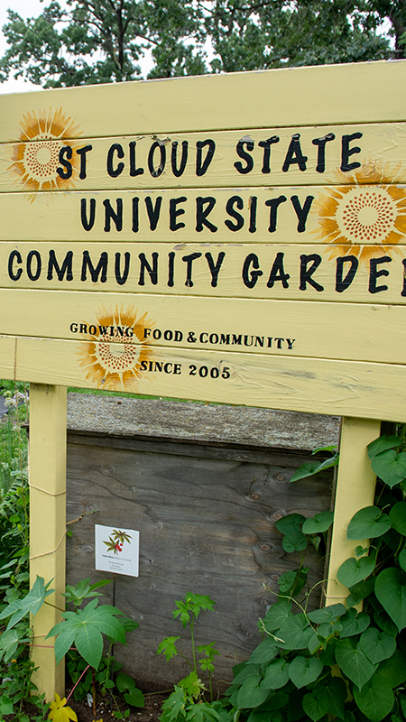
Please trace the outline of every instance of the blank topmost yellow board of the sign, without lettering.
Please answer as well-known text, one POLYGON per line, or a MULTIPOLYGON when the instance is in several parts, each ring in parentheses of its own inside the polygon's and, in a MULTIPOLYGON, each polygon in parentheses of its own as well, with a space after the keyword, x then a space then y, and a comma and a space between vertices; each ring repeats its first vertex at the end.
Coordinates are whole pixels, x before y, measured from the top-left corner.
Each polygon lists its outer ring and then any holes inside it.
POLYGON ((83 137, 404 121, 405 79, 398 60, 3 95, 0 141, 18 140, 24 114, 59 108, 83 137))

